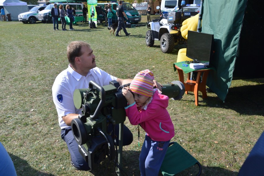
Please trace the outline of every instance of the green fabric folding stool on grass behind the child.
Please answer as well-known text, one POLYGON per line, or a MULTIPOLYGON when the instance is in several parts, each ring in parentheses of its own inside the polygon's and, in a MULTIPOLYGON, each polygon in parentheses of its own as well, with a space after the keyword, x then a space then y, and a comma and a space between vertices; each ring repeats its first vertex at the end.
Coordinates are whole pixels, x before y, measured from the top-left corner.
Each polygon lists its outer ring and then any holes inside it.
POLYGON ((199 176, 202 173, 201 164, 177 142, 170 142, 160 171, 164 176, 173 176, 196 164, 199 167, 196 176, 199 176))

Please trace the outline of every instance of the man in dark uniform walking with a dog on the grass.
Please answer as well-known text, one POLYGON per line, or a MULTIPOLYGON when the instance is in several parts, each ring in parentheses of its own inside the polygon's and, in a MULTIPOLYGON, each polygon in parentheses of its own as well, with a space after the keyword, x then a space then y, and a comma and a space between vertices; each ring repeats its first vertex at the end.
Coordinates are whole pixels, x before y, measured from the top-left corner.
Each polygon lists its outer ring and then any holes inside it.
POLYGON ((122 7, 122 1, 118 1, 118 6, 117 6, 117 20, 118 20, 118 26, 117 26, 117 32, 116 32, 116 37, 120 37, 120 35, 118 35, 119 31, 121 29, 123 29, 123 31, 125 32, 125 36, 130 35, 130 33, 128 33, 125 29, 125 23, 124 23, 124 16, 126 19, 127 16, 124 12, 124 8, 122 7))

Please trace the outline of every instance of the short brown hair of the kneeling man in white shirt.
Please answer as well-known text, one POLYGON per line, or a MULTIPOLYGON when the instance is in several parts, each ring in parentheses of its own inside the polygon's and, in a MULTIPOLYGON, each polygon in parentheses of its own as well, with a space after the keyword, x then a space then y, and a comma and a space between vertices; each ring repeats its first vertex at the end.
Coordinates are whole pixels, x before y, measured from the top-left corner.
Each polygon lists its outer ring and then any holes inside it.
POLYGON ((67 47, 68 61, 73 67, 75 66, 75 57, 79 57, 83 54, 81 53, 81 47, 90 47, 90 45, 82 41, 73 41, 69 43, 67 47))

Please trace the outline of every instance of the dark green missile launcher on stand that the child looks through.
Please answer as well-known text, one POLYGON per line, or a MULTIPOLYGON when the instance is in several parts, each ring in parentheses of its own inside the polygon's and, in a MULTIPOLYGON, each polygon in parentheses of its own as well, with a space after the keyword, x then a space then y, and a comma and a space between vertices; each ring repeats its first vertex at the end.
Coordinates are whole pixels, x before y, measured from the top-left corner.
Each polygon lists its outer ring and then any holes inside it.
MULTIPOLYGON (((100 86, 94 81, 89 82, 89 88, 76 89, 73 93, 74 106, 82 109, 79 118, 71 122, 73 135, 79 145, 79 152, 88 162, 91 170, 96 169, 101 161, 108 156, 109 160, 117 158, 115 138, 107 133, 107 125, 119 124, 118 164, 122 167, 123 125, 127 101, 122 94, 122 88, 128 86, 113 80, 109 85, 100 86)), ((162 94, 179 100, 185 88, 180 81, 162 85, 162 94)), ((113 135, 114 136, 114 135, 113 135)), ((117 160, 116 162, 117 163, 117 160)), ((117 172, 120 170, 117 169, 117 172)), ((121 173, 119 173, 121 175, 121 173)))

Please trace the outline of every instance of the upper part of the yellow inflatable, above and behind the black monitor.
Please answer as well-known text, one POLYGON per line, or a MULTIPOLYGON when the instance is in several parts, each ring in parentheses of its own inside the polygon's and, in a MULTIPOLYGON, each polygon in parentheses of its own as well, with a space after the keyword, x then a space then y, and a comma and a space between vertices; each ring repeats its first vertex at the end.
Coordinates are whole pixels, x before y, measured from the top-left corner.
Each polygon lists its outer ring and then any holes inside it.
POLYGON ((183 25, 181 27, 181 33, 183 38, 188 38, 188 30, 197 31, 198 20, 199 14, 183 21, 183 25))

